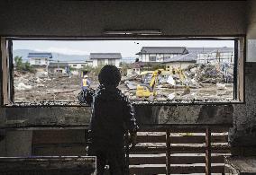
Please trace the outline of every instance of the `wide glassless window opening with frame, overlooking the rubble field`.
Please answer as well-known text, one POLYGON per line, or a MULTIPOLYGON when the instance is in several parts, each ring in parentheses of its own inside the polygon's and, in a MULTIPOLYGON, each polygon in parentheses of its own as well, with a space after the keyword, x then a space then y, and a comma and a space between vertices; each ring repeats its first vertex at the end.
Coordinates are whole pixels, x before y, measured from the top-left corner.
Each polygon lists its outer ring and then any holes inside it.
POLYGON ((96 89, 105 65, 120 69, 118 87, 137 103, 243 101, 243 38, 2 43, 7 48, 2 47, 5 104, 78 104, 84 75, 96 89))

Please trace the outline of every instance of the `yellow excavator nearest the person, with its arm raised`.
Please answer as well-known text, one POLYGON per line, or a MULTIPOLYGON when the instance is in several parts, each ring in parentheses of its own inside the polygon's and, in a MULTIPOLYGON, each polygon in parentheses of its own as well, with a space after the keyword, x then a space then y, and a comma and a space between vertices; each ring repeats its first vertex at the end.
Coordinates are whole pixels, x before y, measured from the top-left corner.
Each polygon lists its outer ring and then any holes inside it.
POLYGON ((151 73, 151 82, 150 84, 141 83, 137 85, 136 96, 137 97, 153 97, 157 95, 156 85, 158 83, 158 76, 161 74, 161 70, 155 70, 151 73))

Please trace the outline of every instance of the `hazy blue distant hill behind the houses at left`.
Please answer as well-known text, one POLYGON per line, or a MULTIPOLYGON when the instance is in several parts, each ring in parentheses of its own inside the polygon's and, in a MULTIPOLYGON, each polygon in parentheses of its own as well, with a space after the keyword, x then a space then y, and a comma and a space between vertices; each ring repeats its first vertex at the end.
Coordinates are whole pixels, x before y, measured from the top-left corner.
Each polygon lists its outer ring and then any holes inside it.
MULTIPOLYGON (((30 50, 30 49, 15 49, 13 52, 13 57, 19 56, 23 57, 23 61, 28 60, 28 54, 30 52, 38 53, 39 51, 30 50)), ((66 55, 51 52, 52 61, 84 61, 89 58, 89 55, 66 55)))

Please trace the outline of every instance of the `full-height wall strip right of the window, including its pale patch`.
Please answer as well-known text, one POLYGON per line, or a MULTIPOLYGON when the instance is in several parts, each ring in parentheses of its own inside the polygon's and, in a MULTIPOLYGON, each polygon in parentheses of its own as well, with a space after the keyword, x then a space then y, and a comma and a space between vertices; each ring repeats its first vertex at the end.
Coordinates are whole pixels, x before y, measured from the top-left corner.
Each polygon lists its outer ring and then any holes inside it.
POLYGON ((256 155, 256 1, 248 1, 245 104, 235 105, 229 137, 234 153, 256 155))

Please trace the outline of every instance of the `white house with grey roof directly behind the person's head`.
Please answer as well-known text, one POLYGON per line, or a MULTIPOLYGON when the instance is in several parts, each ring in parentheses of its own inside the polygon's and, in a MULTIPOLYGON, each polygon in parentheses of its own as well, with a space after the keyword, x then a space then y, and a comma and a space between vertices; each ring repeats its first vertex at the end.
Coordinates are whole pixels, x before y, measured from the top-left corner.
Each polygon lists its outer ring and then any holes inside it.
POLYGON ((120 60, 122 59, 121 53, 91 53, 90 60, 93 61, 93 67, 114 65, 119 67, 120 60))

